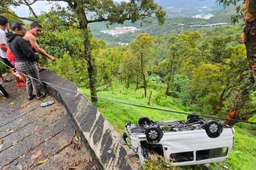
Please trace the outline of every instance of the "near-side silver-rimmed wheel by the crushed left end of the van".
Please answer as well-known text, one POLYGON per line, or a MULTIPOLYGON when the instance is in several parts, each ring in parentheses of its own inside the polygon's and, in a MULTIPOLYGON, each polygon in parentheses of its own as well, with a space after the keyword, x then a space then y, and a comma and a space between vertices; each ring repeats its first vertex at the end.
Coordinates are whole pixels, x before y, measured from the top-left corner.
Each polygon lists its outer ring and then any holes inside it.
POLYGON ((148 127, 145 134, 148 142, 159 142, 163 137, 163 131, 154 126, 148 127))

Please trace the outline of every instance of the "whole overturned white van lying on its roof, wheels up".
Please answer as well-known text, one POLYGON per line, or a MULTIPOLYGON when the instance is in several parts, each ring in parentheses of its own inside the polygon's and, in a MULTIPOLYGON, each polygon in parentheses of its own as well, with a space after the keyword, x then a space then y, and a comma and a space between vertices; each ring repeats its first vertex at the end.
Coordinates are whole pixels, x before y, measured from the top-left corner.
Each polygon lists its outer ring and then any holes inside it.
POLYGON ((123 139, 143 164, 152 153, 176 166, 225 160, 233 146, 234 129, 217 121, 189 114, 185 121, 154 122, 141 117, 138 125, 128 122, 123 139))

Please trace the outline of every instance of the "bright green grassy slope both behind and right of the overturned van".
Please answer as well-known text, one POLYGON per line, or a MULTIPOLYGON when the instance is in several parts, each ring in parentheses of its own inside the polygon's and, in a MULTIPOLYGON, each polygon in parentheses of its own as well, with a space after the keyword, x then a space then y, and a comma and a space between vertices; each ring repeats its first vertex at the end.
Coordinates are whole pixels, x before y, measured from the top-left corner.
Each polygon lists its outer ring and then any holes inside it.
MULTIPOLYGON (((81 89, 85 94, 89 94, 88 89, 81 89)), ((150 91, 150 90, 148 90, 150 91)), ((114 91, 98 92, 99 97, 107 99, 125 101, 127 103, 147 105, 147 99, 142 98, 143 89, 134 92, 134 87, 129 90, 119 84, 114 91)), ((152 97, 154 99, 156 91, 152 90, 152 97)), ((172 102, 171 107, 160 107, 156 104, 151 104, 151 107, 170 109, 175 111, 186 111, 187 109, 181 106, 176 99, 168 99, 172 102)), ((152 101, 151 101, 152 103, 152 101)), ((148 106, 148 105, 147 105, 148 106)), ((97 104, 104 117, 114 126, 120 135, 123 133, 123 128, 126 122, 137 122, 141 116, 147 116, 155 121, 160 120, 184 120, 187 116, 176 113, 168 113, 162 111, 155 111, 146 108, 133 107, 130 105, 110 103, 109 101, 100 100, 97 104)), ((234 135, 233 151, 229 155, 226 162, 212 164, 213 169, 222 169, 222 164, 225 164, 229 169, 254 169, 256 162, 256 126, 249 126, 245 124, 238 124, 234 126, 236 133, 234 135)), ((187 168, 185 168, 187 169, 187 168)))

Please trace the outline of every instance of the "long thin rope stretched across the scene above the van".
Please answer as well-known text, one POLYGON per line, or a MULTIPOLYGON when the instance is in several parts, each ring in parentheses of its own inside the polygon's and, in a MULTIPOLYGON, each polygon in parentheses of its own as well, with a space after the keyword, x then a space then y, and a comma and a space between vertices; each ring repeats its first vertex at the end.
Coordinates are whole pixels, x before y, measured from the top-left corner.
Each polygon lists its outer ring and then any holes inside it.
MULTIPOLYGON (((2 62, 0 60, 0 62, 2 62)), ((2 62, 4 65, 6 65, 4 62, 2 62)), ((10 66, 6 65, 7 67, 9 67, 11 69, 10 66)), ((21 73, 20 71, 16 70, 18 73, 21 73)), ((23 75, 26 75, 24 73, 22 73, 23 75)), ((60 86, 57 86, 55 84, 52 84, 52 83, 48 83, 48 82, 44 82, 42 80, 39 80, 39 79, 36 79, 36 78, 33 78, 29 75, 26 75, 28 76, 29 78, 31 79, 35 79, 35 80, 38 80, 39 82, 42 82, 42 83, 46 83, 46 84, 49 84, 51 86, 54 86, 54 87, 57 87, 57 88, 61 88, 63 90, 66 90, 66 91, 69 91, 69 92, 73 92, 75 94, 83 94, 82 92, 80 91, 73 91, 73 90, 69 90, 68 88, 64 88, 64 87, 60 87, 60 86)), ((98 97, 98 96, 92 96, 92 95, 88 95, 88 94, 83 94, 85 96, 88 96, 88 97, 95 97, 97 99, 100 99, 100 100, 105 100, 105 101, 110 101, 112 103, 119 103, 119 104, 126 104, 126 105, 131 105, 131 106, 135 106, 135 107, 141 107, 141 108, 147 108, 147 109, 154 109, 156 111, 164 111, 164 112, 171 112, 171 113, 177 113, 177 114, 186 114, 186 115, 189 115, 191 113, 184 113, 184 112, 177 112, 177 111, 171 111, 171 110, 166 110, 166 109, 159 109, 159 108, 153 108, 153 107, 147 107, 147 106, 144 106, 144 105, 138 105, 138 104, 131 104, 131 103, 126 103, 124 101, 117 101, 117 100, 111 100, 111 99, 106 99, 104 97, 98 97)), ((243 121, 243 120, 236 120, 236 119, 232 119, 232 118, 222 118, 222 117, 214 117, 214 116, 207 116, 207 115, 203 115, 203 114, 197 114, 197 116, 200 116, 200 117, 206 117, 206 118, 213 118, 213 119, 218 119, 218 120, 229 120, 229 121, 236 121, 236 122, 243 122, 243 123, 247 123, 247 124, 256 124, 256 122, 250 122, 250 121, 243 121)))

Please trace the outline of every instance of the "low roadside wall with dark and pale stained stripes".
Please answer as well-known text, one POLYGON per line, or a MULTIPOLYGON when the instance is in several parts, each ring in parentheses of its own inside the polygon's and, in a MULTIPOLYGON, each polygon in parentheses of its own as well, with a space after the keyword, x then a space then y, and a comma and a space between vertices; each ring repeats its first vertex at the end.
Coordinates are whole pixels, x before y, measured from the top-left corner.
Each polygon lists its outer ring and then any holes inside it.
POLYGON ((61 78, 47 70, 40 72, 40 79, 46 84, 47 91, 57 100, 63 103, 67 112, 75 121, 77 128, 81 130, 94 156, 102 169, 138 169, 138 165, 127 159, 129 150, 121 137, 113 129, 96 107, 81 94, 79 88, 73 82, 61 78), (67 88, 67 91, 62 88, 67 88))

